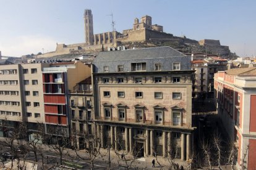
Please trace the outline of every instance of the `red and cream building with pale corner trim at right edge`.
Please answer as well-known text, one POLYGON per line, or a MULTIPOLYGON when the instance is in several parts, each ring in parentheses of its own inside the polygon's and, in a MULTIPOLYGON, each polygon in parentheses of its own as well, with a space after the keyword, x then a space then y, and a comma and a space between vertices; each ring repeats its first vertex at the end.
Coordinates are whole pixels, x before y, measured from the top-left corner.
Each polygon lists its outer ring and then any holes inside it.
POLYGON ((218 71, 214 88, 218 116, 237 147, 237 165, 255 169, 256 68, 218 71))

